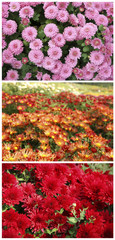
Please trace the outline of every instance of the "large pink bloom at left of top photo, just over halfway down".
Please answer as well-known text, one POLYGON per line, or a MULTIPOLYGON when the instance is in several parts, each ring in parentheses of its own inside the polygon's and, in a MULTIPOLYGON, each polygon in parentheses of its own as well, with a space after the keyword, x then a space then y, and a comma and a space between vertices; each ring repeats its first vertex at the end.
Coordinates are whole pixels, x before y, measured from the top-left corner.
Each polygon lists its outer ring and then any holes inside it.
POLYGON ((19 55, 23 51, 23 43, 21 40, 12 40, 8 48, 14 55, 19 55))

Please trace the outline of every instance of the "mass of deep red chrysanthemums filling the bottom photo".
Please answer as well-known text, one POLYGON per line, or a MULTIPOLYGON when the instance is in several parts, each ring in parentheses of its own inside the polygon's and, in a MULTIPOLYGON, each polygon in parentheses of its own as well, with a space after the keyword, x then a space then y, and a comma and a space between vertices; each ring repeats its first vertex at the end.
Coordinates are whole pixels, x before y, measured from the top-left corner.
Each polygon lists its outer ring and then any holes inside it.
POLYGON ((3 238, 112 238, 112 164, 3 164, 3 238))

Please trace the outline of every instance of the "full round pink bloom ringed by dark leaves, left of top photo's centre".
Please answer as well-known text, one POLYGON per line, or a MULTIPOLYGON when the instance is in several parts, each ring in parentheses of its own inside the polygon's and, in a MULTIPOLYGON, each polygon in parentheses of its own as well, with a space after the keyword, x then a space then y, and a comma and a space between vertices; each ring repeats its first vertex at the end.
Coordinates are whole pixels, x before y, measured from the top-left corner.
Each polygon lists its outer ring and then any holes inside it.
POLYGON ((34 27, 27 27, 22 31, 22 38, 27 42, 32 42, 37 36, 37 30, 34 27))

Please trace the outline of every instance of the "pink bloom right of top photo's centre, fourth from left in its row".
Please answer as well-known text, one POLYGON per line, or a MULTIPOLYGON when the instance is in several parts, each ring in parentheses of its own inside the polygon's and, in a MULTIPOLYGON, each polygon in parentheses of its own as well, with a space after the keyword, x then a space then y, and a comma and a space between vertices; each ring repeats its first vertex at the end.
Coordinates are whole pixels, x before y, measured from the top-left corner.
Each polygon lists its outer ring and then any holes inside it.
POLYGON ((77 36, 76 29, 74 27, 66 27, 64 29, 63 35, 66 41, 69 41, 69 42, 74 41, 77 36))

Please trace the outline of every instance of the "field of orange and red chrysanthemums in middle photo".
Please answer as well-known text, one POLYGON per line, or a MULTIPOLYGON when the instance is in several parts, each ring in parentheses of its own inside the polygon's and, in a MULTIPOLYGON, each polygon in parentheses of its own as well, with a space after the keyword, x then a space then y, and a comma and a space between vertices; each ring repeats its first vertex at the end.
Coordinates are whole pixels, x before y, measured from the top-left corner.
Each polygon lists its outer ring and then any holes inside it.
POLYGON ((113 96, 2 94, 3 161, 111 161, 113 96))

